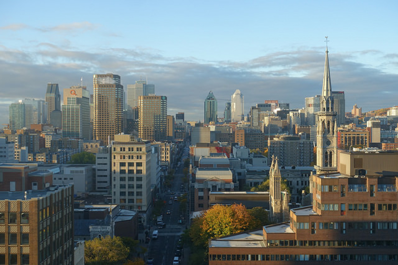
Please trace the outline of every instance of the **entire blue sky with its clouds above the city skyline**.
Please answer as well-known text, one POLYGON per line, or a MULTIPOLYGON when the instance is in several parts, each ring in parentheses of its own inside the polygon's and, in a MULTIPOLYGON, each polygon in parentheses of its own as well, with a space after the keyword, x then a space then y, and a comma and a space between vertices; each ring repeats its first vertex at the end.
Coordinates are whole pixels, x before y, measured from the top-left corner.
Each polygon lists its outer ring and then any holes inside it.
MULTIPOLYGON (((328 36, 333 91, 345 111, 398 105, 398 1, 7 1, 0 9, 0 122, 47 83, 83 85, 113 73, 148 78, 168 114, 219 116, 236 89, 244 110, 279 100, 303 108, 320 94, 328 36)), ((62 98, 62 97, 61 97, 62 98)))

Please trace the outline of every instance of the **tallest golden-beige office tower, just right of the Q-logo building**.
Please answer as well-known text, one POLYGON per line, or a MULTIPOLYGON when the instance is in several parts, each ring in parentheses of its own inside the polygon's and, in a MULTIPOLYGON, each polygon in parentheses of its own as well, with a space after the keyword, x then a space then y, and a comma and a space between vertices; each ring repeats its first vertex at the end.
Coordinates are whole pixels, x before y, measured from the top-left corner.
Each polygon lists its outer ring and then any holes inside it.
POLYGON ((108 144, 108 137, 123 132, 123 85, 120 75, 93 76, 94 124, 93 138, 108 144))

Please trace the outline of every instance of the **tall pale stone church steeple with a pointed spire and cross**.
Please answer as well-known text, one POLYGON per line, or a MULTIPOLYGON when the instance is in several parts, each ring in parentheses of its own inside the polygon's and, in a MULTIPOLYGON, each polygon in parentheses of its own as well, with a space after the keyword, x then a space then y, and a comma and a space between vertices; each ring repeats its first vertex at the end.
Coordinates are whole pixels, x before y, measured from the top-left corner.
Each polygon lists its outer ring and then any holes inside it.
POLYGON ((324 80, 316 135, 316 174, 337 171, 337 120, 330 81, 328 46, 326 46, 324 80))

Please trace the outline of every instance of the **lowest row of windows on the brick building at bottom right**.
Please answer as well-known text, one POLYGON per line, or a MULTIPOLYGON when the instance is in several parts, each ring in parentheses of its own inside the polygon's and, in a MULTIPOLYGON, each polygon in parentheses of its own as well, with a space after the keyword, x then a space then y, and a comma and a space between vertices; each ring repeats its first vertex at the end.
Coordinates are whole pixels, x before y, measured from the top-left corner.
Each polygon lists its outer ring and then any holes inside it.
POLYGON ((397 254, 336 254, 336 255, 285 255, 285 254, 209 254, 210 261, 396 261, 397 254))

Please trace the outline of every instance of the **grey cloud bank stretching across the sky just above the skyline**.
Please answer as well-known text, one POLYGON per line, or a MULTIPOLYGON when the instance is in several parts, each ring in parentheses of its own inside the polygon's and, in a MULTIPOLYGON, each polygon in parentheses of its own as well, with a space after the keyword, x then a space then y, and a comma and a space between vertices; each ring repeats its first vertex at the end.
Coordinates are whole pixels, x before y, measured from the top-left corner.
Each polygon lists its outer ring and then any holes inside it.
MULTIPOLYGON (((396 58, 396 54, 374 53, 380 57, 380 64, 396 58)), ((114 73, 121 76, 125 87, 148 77, 149 83, 155 84, 156 94, 168 97, 169 114, 185 112, 188 120, 203 120, 203 102, 210 90, 220 100, 221 117, 225 100, 236 89, 244 95, 246 113, 250 106, 266 99, 302 108, 305 97, 321 93, 324 56, 317 49, 300 48, 243 62, 210 62, 193 57, 168 58, 160 51, 145 48, 87 52, 53 43, 37 44, 33 51, 0 46, 0 98, 7 102, 43 99, 48 82, 59 83, 62 91, 78 85, 80 77, 92 91, 93 74, 114 73)), ((346 111, 353 104, 364 111, 396 105, 398 75, 359 63, 354 57, 329 54, 332 89, 345 91, 346 111)), ((8 123, 8 108, 5 103, 0 107, 1 124, 8 123)))

